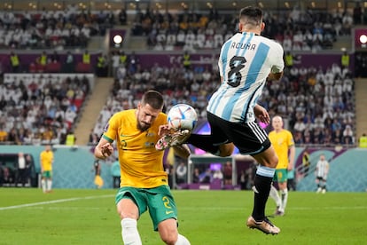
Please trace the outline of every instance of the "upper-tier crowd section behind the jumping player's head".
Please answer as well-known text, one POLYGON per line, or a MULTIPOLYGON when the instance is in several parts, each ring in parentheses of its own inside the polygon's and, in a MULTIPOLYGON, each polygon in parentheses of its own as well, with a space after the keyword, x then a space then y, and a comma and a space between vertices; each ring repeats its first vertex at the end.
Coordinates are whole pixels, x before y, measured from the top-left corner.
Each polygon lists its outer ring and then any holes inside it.
MULTIPOLYGON (((138 12, 132 35, 147 36, 154 50, 220 48, 238 29, 237 12, 138 12)), ((332 48, 339 36, 349 36, 352 26, 361 22, 353 12, 317 12, 294 7, 288 11, 266 12, 262 35, 283 44, 285 51, 317 51, 332 48)))

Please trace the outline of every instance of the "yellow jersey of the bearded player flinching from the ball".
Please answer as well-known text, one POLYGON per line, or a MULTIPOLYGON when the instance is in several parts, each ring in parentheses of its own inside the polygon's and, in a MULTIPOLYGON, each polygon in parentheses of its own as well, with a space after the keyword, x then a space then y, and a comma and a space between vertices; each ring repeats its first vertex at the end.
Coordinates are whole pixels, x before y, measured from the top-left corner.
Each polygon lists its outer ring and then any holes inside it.
POLYGON ((105 127, 103 137, 109 142, 116 140, 119 151, 121 187, 152 188, 168 185, 163 168, 164 151, 157 151, 160 125, 167 123, 167 115, 160 113, 152 126, 145 131, 137 129, 136 109, 113 115, 105 127))

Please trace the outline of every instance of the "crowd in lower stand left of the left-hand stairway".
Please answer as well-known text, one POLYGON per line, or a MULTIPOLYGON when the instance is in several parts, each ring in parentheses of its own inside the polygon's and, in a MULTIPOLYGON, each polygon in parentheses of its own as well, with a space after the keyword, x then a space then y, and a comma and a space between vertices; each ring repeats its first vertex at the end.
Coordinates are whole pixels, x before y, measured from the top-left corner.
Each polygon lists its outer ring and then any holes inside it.
POLYGON ((65 144, 89 91, 86 76, 5 75, 0 83, 0 144, 65 144))

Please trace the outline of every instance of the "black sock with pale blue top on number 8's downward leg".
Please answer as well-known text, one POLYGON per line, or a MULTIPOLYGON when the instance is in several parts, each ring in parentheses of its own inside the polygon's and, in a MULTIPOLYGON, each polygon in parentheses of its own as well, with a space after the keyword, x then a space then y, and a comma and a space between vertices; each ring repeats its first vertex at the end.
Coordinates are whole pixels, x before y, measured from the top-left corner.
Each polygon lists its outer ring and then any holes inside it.
POLYGON ((254 178, 254 209, 253 217, 256 221, 265 218, 265 206, 268 201, 271 183, 273 182, 275 169, 259 166, 254 178))

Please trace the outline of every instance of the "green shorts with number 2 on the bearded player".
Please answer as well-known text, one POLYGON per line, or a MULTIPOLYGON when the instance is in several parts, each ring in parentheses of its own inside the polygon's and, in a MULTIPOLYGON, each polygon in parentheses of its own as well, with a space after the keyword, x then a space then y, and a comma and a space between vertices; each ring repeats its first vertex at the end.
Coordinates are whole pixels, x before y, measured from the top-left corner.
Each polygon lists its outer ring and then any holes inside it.
POLYGON ((168 218, 177 219, 176 203, 169 186, 154 188, 121 187, 116 194, 116 205, 124 198, 128 198, 137 204, 139 216, 149 209, 154 231, 158 231, 158 224, 163 220, 168 218))

